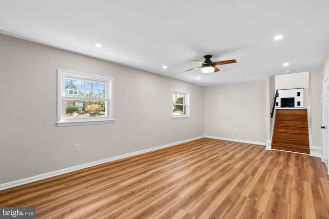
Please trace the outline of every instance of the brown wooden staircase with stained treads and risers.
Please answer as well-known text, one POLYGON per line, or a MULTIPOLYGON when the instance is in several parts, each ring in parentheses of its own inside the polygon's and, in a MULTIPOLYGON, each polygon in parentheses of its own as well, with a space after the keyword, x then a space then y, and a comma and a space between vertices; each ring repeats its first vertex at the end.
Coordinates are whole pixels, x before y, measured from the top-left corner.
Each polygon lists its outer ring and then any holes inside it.
POLYGON ((277 109, 272 149, 309 154, 306 109, 277 109))

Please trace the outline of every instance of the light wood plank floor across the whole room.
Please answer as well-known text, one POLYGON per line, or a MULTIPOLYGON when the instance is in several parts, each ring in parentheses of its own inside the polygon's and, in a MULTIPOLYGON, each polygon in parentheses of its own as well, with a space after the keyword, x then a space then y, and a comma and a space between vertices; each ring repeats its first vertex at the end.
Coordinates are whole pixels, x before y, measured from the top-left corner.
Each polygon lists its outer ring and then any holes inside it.
POLYGON ((320 158, 202 138, 0 191, 37 218, 329 218, 320 158))

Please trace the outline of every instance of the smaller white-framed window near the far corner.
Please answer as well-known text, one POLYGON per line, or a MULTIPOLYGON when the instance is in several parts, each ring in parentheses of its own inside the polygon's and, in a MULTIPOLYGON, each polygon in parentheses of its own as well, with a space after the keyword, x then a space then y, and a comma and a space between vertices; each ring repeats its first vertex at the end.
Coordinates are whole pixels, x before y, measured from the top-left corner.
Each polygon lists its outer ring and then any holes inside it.
POLYGON ((190 117, 189 96, 187 91, 172 90, 172 118, 190 117))

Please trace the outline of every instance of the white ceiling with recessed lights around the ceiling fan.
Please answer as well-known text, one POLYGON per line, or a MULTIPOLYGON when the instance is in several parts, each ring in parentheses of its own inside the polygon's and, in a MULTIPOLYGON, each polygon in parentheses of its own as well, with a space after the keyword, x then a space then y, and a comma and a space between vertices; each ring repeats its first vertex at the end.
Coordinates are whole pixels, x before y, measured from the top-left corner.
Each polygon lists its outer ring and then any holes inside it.
POLYGON ((0 3, 0 33, 203 86, 321 69, 329 54, 328 0, 0 3), (184 72, 207 54, 237 63, 184 72))

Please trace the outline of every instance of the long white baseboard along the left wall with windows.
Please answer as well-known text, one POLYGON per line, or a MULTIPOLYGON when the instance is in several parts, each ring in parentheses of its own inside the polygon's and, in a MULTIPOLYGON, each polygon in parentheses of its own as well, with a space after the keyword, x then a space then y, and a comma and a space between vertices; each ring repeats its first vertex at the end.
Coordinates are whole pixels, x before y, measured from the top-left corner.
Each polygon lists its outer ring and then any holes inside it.
POLYGON ((204 136, 199 136, 199 137, 194 137, 194 138, 190 138, 187 140, 183 140, 183 141, 179 141, 179 142, 175 142, 175 143, 171 143, 171 144, 167 144, 167 145, 161 145, 158 147, 154 147, 154 148, 148 148, 148 149, 144 149, 144 150, 140 150, 140 151, 135 151, 135 152, 131 152, 131 153, 126 153, 126 154, 122 154, 122 155, 118 155, 118 156, 114 156, 114 157, 109 157, 103 160, 99 160, 99 161, 94 161, 94 162, 90 162, 87 164, 81 164, 78 166, 74 166, 74 167, 68 167, 65 169, 61 169, 61 170, 56 170, 56 171, 52 171, 49 173, 44 173, 44 174, 40 174, 40 175, 35 175, 35 176, 31 176, 31 177, 27 177, 27 178, 22 178, 21 180, 16 180, 13 182, 9 182, 9 183, 4 183, 4 184, 0 184, 0 191, 1 190, 5 190, 5 189, 9 189, 9 188, 13 188, 16 186, 21 186, 24 184, 28 184, 28 183, 33 183, 39 180, 44 180, 45 178, 50 178, 53 176, 58 176, 58 175, 62 175, 64 173, 69 173, 69 172, 73 172, 73 171, 77 171, 77 170, 81 170, 81 169, 85 169, 88 167, 93 167, 96 165, 100 165, 100 164, 104 164, 107 162, 111 162, 111 161, 116 161, 125 157, 130 157, 130 156, 134 156, 134 155, 138 155, 138 154, 142 154, 142 153, 147 153, 150 151, 155 151, 161 148, 167 148, 167 147, 171 147, 174 145, 178 145, 178 144, 182 144, 182 143, 186 143, 186 142, 191 142, 194 140, 197 140, 199 138, 203 138, 204 136))

